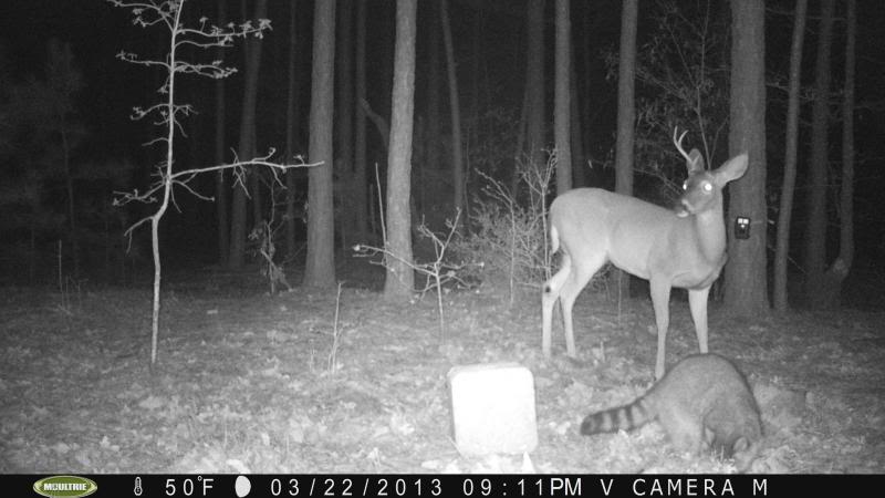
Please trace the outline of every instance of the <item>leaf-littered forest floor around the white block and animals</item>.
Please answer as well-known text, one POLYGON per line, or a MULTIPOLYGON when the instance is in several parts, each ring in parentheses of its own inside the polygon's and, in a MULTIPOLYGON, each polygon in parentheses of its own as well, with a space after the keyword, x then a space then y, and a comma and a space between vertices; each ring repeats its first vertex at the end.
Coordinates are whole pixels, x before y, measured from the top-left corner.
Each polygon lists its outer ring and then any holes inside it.
MULTIPOLYGON (((269 295, 257 274, 195 273, 167 278, 153 373, 149 284, 0 290, 0 473, 735 471, 673 449, 657 424, 579 435, 589 412, 650 385, 647 298, 586 290, 579 359, 556 319, 545 361, 534 292, 449 292, 441 332, 430 294, 387 304, 357 278, 335 324, 334 290, 269 295), (493 362, 534 376, 528 458, 452 443, 448 371, 493 362)), ((668 364, 697 351, 685 297, 670 309, 668 364)), ((851 310, 735 320, 710 304, 710 350, 747 373, 762 411, 752 471, 885 471, 884 323, 851 310)))

